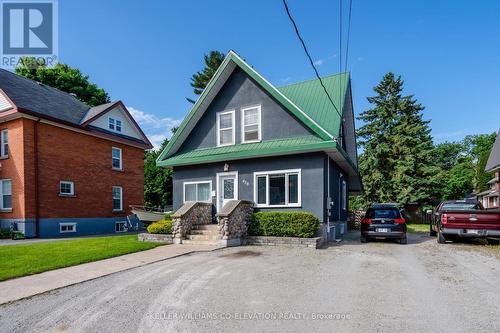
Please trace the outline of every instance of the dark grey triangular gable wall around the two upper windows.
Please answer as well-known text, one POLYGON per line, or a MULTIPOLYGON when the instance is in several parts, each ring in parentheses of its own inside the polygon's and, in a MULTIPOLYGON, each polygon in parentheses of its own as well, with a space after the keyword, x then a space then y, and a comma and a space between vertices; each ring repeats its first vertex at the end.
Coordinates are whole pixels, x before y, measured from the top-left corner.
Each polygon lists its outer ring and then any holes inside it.
POLYGON ((263 141, 312 134, 246 73, 236 68, 179 151, 217 146, 216 114, 221 111, 236 110, 235 141, 236 144, 241 143, 241 108, 256 104, 261 105, 263 141))

